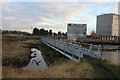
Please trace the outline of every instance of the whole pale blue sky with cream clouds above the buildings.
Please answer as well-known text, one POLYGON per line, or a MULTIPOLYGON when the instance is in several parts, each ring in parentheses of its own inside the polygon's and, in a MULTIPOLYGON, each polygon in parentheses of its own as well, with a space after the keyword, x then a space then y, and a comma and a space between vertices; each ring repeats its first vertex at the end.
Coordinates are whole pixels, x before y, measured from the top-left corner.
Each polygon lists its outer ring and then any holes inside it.
POLYGON ((97 15, 118 13, 117 0, 4 0, 0 3, 3 30, 31 32, 33 28, 67 32, 68 23, 87 24, 96 31, 97 15))

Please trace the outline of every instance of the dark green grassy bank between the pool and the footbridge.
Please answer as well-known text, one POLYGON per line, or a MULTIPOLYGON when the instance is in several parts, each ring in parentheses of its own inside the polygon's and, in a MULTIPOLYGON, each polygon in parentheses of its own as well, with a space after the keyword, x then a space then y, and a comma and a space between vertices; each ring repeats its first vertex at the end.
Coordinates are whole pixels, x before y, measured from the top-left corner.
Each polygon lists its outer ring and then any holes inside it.
POLYGON ((38 48, 42 52, 42 55, 49 66, 54 64, 61 64, 69 60, 62 54, 58 53, 57 51, 51 49, 41 42, 38 48))

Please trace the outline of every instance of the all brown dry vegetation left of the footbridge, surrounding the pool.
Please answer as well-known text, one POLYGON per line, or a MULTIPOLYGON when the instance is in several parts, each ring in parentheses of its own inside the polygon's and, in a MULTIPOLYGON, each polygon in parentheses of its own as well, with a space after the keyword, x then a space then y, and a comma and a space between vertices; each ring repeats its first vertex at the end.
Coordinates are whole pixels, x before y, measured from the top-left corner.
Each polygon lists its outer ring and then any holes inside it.
POLYGON ((38 40, 3 37, 3 78, 101 78, 104 77, 98 69, 83 60, 80 63, 52 54, 53 50, 38 40), (30 48, 39 46, 42 54, 47 55, 50 65, 45 71, 22 70, 29 62, 30 48), (41 46, 40 46, 41 45, 41 46), (47 49, 47 50, 45 50, 47 49), (55 60, 57 62, 55 62, 55 60), (51 62, 52 61, 52 62, 51 62))

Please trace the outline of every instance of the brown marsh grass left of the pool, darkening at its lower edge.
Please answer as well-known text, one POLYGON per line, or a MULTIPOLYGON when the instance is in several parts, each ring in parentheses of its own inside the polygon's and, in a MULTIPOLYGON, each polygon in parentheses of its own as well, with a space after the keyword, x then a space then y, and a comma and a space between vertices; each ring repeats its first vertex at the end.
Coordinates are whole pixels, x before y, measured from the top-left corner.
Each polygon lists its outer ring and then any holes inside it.
POLYGON ((2 65, 20 68, 29 63, 30 44, 35 44, 35 39, 2 38, 2 65))

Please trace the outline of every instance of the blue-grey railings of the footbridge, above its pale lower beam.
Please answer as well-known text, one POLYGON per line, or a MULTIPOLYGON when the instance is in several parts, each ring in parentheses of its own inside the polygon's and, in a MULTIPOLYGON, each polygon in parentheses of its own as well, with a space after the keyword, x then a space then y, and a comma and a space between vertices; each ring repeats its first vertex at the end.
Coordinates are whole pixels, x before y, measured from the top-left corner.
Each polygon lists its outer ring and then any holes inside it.
POLYGON ((89 55, 91 57, 96 57, 96 58, 100 58, 101 53, 99 51, 92 51, 86 48, 83 48, 77 44, 72 44, 72 43, 68 43, 68 42, 63 42, 63 41, 58 41, 58 40, 45 40, 47 43, 61 49, 64 50, 68 53, 71 53, 73 55, 79 56, 81 58, 83 58, 83 54, 85 55, 89 55), (81 56, 80 56, 81 55, 81 56))

